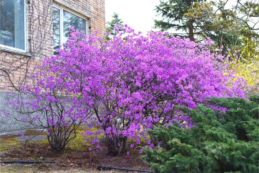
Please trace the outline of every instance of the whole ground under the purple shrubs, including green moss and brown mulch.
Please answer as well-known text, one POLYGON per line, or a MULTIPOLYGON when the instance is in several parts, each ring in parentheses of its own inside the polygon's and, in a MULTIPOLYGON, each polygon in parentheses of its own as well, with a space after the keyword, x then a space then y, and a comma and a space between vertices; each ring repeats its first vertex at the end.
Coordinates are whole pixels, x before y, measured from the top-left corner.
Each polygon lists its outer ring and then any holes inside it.
MULTIPOLYGON (((1 160, 30 160, 39 161, 40 157, 44 160, 58 161, 55 164, 33 164, 33 165, 19 165, 19 164, 1 164, 1 172, 118 172, 112 171, 98 171, 95 165, 103 165, 118 168, 143 169, 148 170, 149 166, 145 164, 139 156, 138 151, 130 148, 130 156, 118 155, 116 157, 107 155, 107 150, 99 150, 98 153, 90 152, 96 148, 90 143, 90 136, 83 136, 81 133, 87 131, 96 131, 97 128, 88 129, 80 127, 76 130, 75 139, 71 140, 68 148, 63 153, 53 153, 47 140, 39 140, 27 142, 18 142, 15 137, 4 137, 1 142, 12 142, 20 147, 8 148, 6 153, 1 154, 1 160), (87 141, 84 141, 87 138, 87 141), (4 166, 2 166, 4 165, 4 166)), ((27 131, 24 135, 31 135, 33 131, 27 131)), ((16 135, 17 136, 17 135, 16 135)), ((100 138, 102 135, 99 136, 100 138)), ((1 146, 2 148, 2 146, 1 146)))

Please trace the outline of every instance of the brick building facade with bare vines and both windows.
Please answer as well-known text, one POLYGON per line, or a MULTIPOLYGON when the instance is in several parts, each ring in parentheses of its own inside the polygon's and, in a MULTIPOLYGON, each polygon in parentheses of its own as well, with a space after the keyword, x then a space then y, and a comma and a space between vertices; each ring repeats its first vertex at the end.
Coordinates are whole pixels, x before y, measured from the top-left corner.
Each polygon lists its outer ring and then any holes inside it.
POLYGON ((10 92, 28 82, 34 66, 67 41, 69 27, 105 32, 105 0, 0 0, 1 133, 24 129, 3 118, 10 92))

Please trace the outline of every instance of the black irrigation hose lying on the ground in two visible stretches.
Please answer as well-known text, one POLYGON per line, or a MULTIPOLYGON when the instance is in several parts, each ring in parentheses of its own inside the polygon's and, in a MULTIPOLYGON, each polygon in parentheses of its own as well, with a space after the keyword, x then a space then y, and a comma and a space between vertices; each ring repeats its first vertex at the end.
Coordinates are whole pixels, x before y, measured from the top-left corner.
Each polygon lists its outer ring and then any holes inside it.
MULTIPOLYGON (((57 161, 25 161, 25 160, 17 160, 17 161, 0 161, 0 163, 10 164, 10 163, 20 163, 20 164, 34 164, 34 163, 56 163, 57 161)), ((125 171, 125 172, 153 172, 149 170, 136 170, 136 169, 126 169, 126 168, 114 168, 114 167, 105 167, 105 166, 97 166, 98 170, 119 170, 119 171, 125 171)))

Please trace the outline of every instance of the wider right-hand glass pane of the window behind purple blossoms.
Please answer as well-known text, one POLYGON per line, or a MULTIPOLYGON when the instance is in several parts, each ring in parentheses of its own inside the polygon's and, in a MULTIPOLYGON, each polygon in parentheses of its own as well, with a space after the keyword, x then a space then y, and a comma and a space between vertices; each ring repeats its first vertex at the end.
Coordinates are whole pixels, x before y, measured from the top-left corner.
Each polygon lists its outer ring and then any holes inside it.
POLYGON ((64 42, 68 40, 67 35, 69 34, 69 27, 72 26, 79 31, 83 30, 86 32, 86 20, 75 16, 65 10, 63 10, 63 37, 64 42))

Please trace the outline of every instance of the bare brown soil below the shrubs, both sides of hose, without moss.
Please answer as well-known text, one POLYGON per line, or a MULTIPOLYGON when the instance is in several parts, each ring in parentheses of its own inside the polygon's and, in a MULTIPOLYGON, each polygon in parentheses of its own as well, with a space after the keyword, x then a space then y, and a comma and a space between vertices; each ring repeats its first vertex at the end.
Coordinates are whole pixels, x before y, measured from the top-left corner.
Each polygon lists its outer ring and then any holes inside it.
MULTIPOLYGON (((16 136, 12 136, 16 137, 16 136)), ((1 136, 2 139, 8 139, 1 136)), ((86 144, 87 146, 87 144, 86 144)), ((20 147, 8 149, 2 153, 0 160, 36 160, 44 157, 44 161, 57 161, 55 164, 32 164, 15 166, 16 164, 6 165, 1 164, 1 172, 106 172, 97 170, 97 166, 108 166, 115 168, 128 168, 137 170, 149 170, 147 165, 140 158, 140 153, 131 150, 130 155, 110 156, 106 154, 106 150, 98 151, 98 153, 90 151, 81 151, 75 149, 67 149, 62 154, 55 154, 51 152, 51 148, 46 143, 39 143, 38 141, 27 143, 20 143, 20 147), (17 169, 19 168, 19 169, 17 169), (28 171, 29 169, 29 171, 28 171), (4 171, 3 171, 4 170, 4 171)), ((109 171, 110 172, 110 171, 109 171)), ((116 171, 112 171, 116 172, 116 171)), ((118 171, 117 171, 118 172, 118 171)), ((121 172, 121 171, 120 171, 121 172)))

